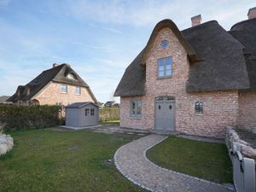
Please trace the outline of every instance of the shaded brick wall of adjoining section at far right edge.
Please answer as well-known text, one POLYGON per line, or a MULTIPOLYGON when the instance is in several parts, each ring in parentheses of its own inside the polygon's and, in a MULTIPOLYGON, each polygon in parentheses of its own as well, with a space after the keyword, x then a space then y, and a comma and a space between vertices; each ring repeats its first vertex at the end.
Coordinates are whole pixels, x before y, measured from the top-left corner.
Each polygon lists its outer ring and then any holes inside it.
POLYGON ((256 128, 256 92, 240 92, 239 125, 246 128, 256 128))

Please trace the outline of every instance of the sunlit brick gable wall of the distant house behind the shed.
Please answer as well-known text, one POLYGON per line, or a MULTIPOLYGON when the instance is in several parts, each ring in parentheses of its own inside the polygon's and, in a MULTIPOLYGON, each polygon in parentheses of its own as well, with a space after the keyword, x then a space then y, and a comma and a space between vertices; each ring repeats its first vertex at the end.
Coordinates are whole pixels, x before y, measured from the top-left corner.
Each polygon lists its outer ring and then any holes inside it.
POLYGON ((67 85, 67 93, 61 93, 61 84, 50 82, 43 90, 39 92, 37 96, 32 99, 37 99, 40 105, 49 104, 55 105, 56 103, 61 103, 62 105, 67 105, 73 102, 94 102, 91 98, 88 90, 81 87, 81 95, 75 95, 74 85, 67 85))

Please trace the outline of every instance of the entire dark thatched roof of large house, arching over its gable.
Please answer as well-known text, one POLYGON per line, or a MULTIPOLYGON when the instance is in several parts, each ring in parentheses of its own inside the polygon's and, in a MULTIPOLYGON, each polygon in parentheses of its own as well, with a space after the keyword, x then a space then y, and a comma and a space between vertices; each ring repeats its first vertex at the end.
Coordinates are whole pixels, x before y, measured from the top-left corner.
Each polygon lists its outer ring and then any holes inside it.
MULTIPOLYGON (((172 20, 163 20, 154 28, 148 44, 126 68, 114 96, 145 94, 147 65, 143 58, 150 41, 161 27, 170 27, 187 50, 190 65, 187 91, 240 90, 249 88, 244 45, 226 32, 215 20, 178 31, 172 20), (161 24, 163 22, 163 24, 161 24), (166 24, 168 23, 169 24, 166 24), (182 38, 181 38, 182 37, 182 38)), ((255 33, 254 33, 255 34, 255 33)))

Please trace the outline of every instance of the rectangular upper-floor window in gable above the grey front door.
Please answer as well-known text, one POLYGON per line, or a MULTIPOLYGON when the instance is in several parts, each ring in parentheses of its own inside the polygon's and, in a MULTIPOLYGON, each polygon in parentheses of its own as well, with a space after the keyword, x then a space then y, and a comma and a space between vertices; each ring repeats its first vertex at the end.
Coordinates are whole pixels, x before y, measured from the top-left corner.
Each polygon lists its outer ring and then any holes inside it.
POLYGON ((157 60, 158 78, 172 77, 172 57, 161 58, 157 60))

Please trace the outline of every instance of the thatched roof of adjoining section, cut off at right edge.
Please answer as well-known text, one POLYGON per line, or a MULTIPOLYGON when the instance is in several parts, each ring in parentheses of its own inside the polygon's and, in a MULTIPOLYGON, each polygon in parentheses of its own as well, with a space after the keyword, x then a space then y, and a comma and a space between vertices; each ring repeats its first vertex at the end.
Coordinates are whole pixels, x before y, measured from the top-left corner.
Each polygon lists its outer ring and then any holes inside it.
POLYGON ((231 27, 230 34, 245 46, 244 57, 250 81, 247 90, 256 90, 256 18, 236 23, 231 27))

